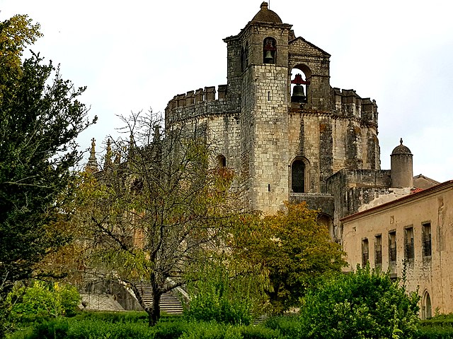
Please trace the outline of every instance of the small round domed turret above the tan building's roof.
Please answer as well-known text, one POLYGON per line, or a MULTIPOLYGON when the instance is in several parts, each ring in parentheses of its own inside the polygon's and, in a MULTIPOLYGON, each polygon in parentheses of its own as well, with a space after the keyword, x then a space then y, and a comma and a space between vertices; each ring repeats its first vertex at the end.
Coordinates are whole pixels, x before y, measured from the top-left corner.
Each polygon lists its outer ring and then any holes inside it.
POLYGON ((403 139, 390 155, 391 186, 413 187, 412 153, 403 145, 403 139))

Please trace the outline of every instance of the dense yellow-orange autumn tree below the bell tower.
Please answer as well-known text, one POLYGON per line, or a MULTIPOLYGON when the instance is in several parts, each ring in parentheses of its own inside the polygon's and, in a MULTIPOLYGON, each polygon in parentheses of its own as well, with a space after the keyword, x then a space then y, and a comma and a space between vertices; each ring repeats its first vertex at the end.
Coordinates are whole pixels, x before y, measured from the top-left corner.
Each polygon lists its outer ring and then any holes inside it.
POLYGON ((327 227, 316 222, 318 215, 306 203, 287 203, 277 215, 260 220, 248 216, 236 229, 231 244, 238 266, 268 282, 263 288, 270 311, 298 307, 309 287, 345 266, 340 245, 331 242, 327 227))

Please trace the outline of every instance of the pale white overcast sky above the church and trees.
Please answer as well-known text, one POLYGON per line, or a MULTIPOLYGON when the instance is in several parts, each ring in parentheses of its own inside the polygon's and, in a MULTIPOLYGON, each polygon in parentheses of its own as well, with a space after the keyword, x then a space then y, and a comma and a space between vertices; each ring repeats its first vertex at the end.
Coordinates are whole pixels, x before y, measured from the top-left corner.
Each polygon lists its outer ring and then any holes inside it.
MULTIPOLYGON (((88 148, 120 126, 118 114, 164 112, 178 93, 226 84, 224 37, 262 0, 0 0, 0 20, 28 14, 42 26, 33 51, 87 86, 97 115, 88 148)), ((270 0, 296 36, 331 54, 331 85, 377 101, 382 169, 403 138, 414 175, 453 179, 453 2, 270 0)))

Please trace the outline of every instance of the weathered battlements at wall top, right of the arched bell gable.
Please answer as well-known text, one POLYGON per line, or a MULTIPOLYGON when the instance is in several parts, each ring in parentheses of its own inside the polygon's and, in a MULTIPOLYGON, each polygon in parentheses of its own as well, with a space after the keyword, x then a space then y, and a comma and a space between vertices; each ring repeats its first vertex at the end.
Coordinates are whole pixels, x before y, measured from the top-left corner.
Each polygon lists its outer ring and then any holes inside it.
POLYGON ((377 125, 377 105, 369 97, 362 98, 355 90, 332 88, 333 106, 345 117, 355 117, 367 124, 377 125))

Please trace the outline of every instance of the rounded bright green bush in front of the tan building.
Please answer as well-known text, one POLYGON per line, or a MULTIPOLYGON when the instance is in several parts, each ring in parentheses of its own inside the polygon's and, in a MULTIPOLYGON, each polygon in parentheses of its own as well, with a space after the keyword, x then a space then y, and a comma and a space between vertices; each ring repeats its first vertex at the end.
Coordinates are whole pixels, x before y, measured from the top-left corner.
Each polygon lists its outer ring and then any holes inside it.
POLYGON ((419 299, 404 279, 357 267, 306 295, 302 338, 413 338, 419 299))

